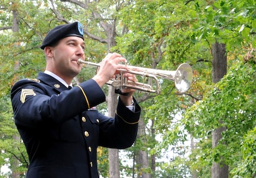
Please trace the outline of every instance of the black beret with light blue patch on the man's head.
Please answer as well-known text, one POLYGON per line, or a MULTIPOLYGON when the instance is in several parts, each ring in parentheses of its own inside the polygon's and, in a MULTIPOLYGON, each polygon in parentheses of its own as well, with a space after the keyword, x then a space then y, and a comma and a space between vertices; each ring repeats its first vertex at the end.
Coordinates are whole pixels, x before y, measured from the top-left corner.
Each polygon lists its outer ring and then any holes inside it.
POLYGON ((46 46, 51 46, 54 43, 57 43, 59 40, 64 39, 68 36, 77 36, 83 39, 83 26, 79 22, 65 24, 53 28, 43 39, 41 49, 44 49, 46 46))

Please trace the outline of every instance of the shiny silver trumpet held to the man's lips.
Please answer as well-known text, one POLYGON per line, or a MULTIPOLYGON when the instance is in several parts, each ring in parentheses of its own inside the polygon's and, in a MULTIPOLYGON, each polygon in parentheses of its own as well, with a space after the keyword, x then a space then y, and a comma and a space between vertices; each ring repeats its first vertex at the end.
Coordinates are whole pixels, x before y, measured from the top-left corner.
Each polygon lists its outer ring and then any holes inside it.
MULTIPOLYGON (((98 71, 98 68, 101 66, 100 63, 83 61, 82 59, 78 59, 77 64, 96 66, 96 71, 98 71)), ((182 63, 179 65, 176 71, 164 71, 160 69, 149 69, 130 65, 126 66, 127 69, 118 69, 120 74, 116 75, 115 79, 111 79, 110 81, 106 82, 106 84, 112 85, 116 90, 119 91, 123 88, 133 88, 145 93, 155 93, 157 95, 161 93, 160 81, 158 78, 173 81, 179 93, 185 93, 191 86, 193 74, 192 68, 188 63, 182 63), (124 72, 141 76, 143 78, 143 82, 127 81, 126 78, 123 78, 124 72), (151 80, 151 84, 145 84, 145 78, 149 78, 151 80), (154 84, 154 86, 152 84, 154 84)))

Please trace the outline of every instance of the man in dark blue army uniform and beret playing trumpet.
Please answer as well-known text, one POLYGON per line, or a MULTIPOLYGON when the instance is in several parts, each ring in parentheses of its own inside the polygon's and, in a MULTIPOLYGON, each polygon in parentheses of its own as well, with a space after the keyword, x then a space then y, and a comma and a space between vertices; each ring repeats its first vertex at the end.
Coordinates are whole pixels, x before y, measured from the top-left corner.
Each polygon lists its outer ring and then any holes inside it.
MULTIPOLYGON (((126 59, 108 54, 92 79, 73 87, 71 81, 82 68, 77 60, 85 59, 82 25, 53 28, 40 48, 45 53, 45 72, 39 72, 36 80, 20 80, 11 89, 15 125, 29 155, 27 177, 99 177, 98 145, 130 147, 138 130, 141 108, 131 88, 118 98, 114 118, 95 109, 105 101, 101 87, 118 69, 126 69, 118 64, 126 59)), ((136 81, 133 74, 123 77, 136 81)))

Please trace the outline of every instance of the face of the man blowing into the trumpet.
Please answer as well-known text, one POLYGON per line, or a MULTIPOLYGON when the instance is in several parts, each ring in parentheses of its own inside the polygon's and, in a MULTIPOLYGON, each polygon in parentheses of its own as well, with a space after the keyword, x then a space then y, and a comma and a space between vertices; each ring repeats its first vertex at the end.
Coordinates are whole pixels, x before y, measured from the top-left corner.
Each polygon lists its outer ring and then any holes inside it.
POLYGON ((70 36, 61 39, 52 47, 52 72, 61 78, 73 78, 81 71, 78 59, 84 59, 85 42, 80 37, 70 36))

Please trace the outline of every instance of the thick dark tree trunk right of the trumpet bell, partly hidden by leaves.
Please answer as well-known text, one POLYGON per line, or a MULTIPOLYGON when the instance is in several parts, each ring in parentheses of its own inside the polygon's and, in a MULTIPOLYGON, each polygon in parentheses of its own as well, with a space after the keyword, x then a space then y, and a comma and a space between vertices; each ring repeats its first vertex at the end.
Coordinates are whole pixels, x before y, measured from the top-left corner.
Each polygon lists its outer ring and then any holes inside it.
MULTIPOLYGON (((227 73, 227 57, 226 57, 226 47, 224 44, 214 43, 213 44, 213 71, 212 77, 213 82, 216 83, 223 78, 227 73)), ((221 118, 219 118, 221 123, 221 118)), ((217 147, 220 139, 222 138, 221 133, 226 130, 226 127, 217 128, 213 131, 212 146, 217 147)), ((221 160, 221 158, 220 158, 221 160)), ((227 178, 229 177, 229 166, 224 164, 222 161, 220 163, 213 163, 211 167, 211 177, 212 178, 227 178)))

